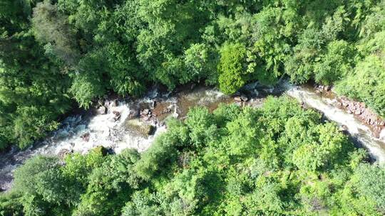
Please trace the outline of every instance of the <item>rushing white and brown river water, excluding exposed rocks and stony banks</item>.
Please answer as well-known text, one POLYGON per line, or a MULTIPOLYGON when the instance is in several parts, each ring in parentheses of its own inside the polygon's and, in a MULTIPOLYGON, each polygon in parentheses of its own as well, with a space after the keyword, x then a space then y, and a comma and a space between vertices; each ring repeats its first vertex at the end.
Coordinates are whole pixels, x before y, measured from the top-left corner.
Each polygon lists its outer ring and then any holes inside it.
MULTIPOLYGON (((257 83, 247 85, 246 89, 251 94, 247 104, 258 107, 267 95, 282 95, 282 93, 304 102, 309 107, 324 113, 331 121, 339 126, 346 126, 351 136, 361 146, 367 148, 372 158, 383 163, 385 161, 385 131, 382 133, 384 140, 371 136, 368 126, 356 119, 353 114, 348 114, 343 109, 335 106, 337 100, 334 97, 323 97, 308 87, 297 87, 283 82, 279 87, 263 87, 257 83)), ((31 156, 62 155, 66 152, 86 153, 96 146, 105 146, 119 153, 124 148, 136 148, 145 151, 158 134, 166 130, 163 120, 169 116, 183 118, 190 107, 196 105, 208 107, 213 110, 218 104, 234 102, 232 97, 223 95, 220 91, 210 87, 195 87, 184 89, 177 93, 160 94, 157 90, 148 93, 147 97, 135 101, 121 100, 118 104, 108 102, 106 114, 74 115, 61 122, 61 126, 33 147, 19 151, 13 149, 8 153, 0 154, 0 188, 11 188, 12 173, 27 158, 31 156), (151 124, 156 128, 155 134, 140 134, 135 131, 132 124, 128 124, 130 114, 134 109, 151 107, 156 101, 152 112, 156 114, 156 121, 145 122, 143 119, 135 119, 138 124, 151 124), (168 112, 164 112, 164 110, 168 112), (116 112, 120 118, 116 121, 116 112)))

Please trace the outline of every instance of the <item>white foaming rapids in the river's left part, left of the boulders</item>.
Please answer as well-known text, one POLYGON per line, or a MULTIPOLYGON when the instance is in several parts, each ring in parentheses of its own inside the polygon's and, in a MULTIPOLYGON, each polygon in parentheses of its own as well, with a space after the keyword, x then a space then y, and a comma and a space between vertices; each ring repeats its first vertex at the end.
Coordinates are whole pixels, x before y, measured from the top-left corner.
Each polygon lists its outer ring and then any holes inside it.
MULTIPOLYGON (((151 92, 153 95, 154 92, 151 92)), ((156 96, 156 95, 155 95, 156 96)), ((155 139, 155 136, 165 131, 165 126, 158 126, 154 135, 139 136, 125 126, 130 114, 130 107, 140 102, 149 102, 145 97, 140 101, 126 103, 119 102, 116 107, 108 106, 106 114, 97 114, 92 117, 76 115, 61 122, 61 126, 43 141, 33 147, 19 151, 14 149, 0 156, 0 188, 11 188, 12 173, 27 158, 36 155, 59 155, 63 152, 87 153, 96 146, 112 148, 120 153, 124 148, 136 148, 145 151, 155 139), (113 112, 119 112, 120 119, 115 121, 113 112), (86 134, 86 135, 85 135, 86 134), (81 136, 87 136, 87 139, 81 136)), ((111 104, 111 103, 110 103, 111 104)), ((152 123, 153 124, 153 123, 152 123)))

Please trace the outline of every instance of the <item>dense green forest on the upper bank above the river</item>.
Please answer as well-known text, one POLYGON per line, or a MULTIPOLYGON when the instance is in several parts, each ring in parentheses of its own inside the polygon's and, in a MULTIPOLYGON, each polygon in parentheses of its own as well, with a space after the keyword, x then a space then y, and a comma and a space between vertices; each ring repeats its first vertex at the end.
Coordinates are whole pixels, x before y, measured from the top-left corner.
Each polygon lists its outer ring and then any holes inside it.
POLYGON ((1 0, 0 23, 0 149, 153 83, 232 94, 288 75, 385 115, 384 0, 1 0))

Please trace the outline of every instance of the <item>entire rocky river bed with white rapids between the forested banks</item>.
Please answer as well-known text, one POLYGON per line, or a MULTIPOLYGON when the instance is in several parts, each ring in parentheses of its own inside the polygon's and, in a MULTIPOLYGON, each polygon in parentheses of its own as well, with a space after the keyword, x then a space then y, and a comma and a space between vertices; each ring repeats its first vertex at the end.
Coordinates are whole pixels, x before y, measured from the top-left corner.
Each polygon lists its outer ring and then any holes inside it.
POLYGON ((155 88, 142 99, 100 100, 90 111, 63 120, 58 130, 29 149, 19 151, 14 148, 8 153, 1 153, 0 188, 11 188, 14 169, 31 156, 63 157, 72 152, 87 153, 97 146, 104 146, 115 153, 124 148, 145 151, 158 134, 166 131, 166 119, 184 119, 190 107, 205 106, 211 111, 220 103, 260 107, 268 95, 282 94, 324 113, 326 119, 335 121, 342 130, 351 134, 351 139, 359 146, 368 149, 374 160, 385 161, 385 130, 377 129, 378 136, 371 134, 375 131, 371 125, 381 126, 381 121, 374 120, 368 114, 369 109, 363 109, 362 104, 338 98, 329 88, 297 87, 288 82, 282 82, 277 87, 252 83, 230 97, 212 87, 186 85, 175 92, 162 92, 155 88))

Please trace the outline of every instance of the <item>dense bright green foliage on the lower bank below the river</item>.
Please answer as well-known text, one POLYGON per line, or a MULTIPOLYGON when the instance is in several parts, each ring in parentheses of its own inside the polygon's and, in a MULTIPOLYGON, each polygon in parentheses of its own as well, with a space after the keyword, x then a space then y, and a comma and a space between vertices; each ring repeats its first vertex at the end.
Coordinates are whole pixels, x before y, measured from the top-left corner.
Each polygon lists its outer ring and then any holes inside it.
POLYGON ((384 215, 385 169, 287 97, 190 109, 142 154, 101 148, 15 172, 0 215, 384 215))

